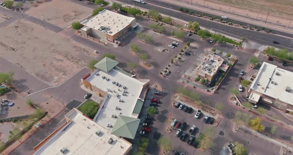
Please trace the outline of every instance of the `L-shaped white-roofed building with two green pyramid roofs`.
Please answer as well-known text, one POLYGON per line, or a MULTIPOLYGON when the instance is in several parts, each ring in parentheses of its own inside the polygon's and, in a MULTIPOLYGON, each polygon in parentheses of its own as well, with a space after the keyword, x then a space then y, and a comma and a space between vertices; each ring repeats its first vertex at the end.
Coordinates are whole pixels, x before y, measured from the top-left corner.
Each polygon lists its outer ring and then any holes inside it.
POLYGON ((94 121, 113 134, 134 139, 149 80, 133 78, 116 67, 118 62, 105 57, 84 77, 86 91, 104 97, 94 121))

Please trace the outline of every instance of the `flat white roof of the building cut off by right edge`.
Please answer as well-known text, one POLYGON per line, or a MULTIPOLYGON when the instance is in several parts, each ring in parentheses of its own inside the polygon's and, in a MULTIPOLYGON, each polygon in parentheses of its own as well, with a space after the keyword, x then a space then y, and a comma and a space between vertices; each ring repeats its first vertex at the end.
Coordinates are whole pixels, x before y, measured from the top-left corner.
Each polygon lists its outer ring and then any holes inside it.
POLYGON ((293 105, 293 72, 263 62, 250 89, 293 105), (278 75, 276 75, 278 73, 278 75), (286 91, 290 87, 291 91, 286 91))

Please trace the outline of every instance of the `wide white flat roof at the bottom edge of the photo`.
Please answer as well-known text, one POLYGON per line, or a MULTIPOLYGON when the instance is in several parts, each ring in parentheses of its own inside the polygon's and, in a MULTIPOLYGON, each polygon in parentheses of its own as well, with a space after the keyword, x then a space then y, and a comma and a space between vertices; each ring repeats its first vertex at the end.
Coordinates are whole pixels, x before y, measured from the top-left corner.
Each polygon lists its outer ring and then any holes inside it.
POLYGON ((60 152, 63 148, 68 150, 66 155, 124 155, 132 147, 129 142, 111 135, 75 108, 65 117, 71 121, 68 121, 34 155, 63 155, 60 152), (102 136, 96 135, 97 131, 101 131, 102 136), (108 143, 110 138, 113 139, 112 144, 108 143))

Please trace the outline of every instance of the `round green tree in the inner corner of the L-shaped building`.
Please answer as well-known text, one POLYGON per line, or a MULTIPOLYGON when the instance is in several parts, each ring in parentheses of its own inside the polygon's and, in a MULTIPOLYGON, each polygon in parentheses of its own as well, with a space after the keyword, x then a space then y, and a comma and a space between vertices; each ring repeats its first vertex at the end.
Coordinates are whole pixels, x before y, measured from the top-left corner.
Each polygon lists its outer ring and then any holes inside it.
POLYGON ((93 119, 98 111, 98 103, 94 101, 86 101, 77 109, 90 119, 93 119))

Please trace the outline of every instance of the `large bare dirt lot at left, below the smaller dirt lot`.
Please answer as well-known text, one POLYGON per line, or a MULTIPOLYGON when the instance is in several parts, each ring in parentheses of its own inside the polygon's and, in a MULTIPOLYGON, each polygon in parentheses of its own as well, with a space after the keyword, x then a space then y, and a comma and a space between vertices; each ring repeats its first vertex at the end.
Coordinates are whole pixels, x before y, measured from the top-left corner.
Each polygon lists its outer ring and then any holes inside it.
POLYGON ((7 25, 0 36, 2 57, 50 85, 63 82, 93 57, 87 47, 23 19, 7 25))

